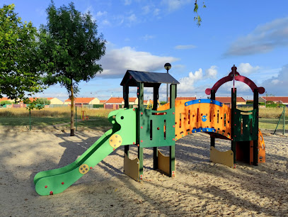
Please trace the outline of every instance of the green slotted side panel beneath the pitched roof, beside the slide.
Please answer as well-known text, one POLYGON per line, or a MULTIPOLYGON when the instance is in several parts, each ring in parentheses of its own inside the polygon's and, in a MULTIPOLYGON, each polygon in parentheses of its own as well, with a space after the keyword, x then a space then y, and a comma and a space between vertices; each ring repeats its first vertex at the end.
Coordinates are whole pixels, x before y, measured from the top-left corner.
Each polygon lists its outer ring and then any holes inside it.
POLYGON ((175 108, 165 111, 140 109, 139 112, 140 148, 175 145, 175 108))

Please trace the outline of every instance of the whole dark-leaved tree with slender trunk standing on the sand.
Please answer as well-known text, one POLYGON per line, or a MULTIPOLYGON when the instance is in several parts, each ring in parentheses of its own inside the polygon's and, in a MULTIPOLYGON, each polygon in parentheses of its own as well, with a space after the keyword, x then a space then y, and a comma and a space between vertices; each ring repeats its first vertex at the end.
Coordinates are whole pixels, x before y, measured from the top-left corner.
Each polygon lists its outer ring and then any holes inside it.
POLYGON ((40 27, 41 68, 45 84, 61 84, 71 99, 71 133, 74 135, 74 94, 80 81, 88 82, 102 72, 97 60, 105 54, 105 40, 98 36, 91 13, 76 11, 74 4, 47 8, 47 25, 40 27))

